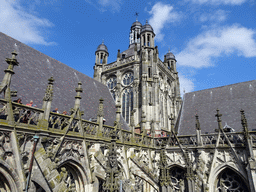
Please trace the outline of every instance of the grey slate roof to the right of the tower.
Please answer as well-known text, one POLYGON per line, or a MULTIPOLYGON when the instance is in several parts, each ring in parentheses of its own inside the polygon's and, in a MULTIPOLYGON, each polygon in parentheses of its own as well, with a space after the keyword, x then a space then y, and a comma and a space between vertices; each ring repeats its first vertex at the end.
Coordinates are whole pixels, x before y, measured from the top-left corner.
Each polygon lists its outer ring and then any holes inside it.
POLYGON ((199 116, 202 133, 218 128, 216 109, 222 114, 222 126, 227 123, 236 132, 242 131, 240 110, 245 111, 249 130, 256 129, 256 80, 213 89, 186 93, 179 122, 179 135, 195 134, 195 114, 199 116))

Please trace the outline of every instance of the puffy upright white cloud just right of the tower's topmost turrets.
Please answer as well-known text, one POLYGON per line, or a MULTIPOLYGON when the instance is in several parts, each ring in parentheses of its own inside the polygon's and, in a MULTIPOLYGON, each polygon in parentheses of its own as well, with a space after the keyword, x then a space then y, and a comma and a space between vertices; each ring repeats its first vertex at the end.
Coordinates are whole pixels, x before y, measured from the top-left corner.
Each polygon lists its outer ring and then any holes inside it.
POLYGON ((163 40, 164 34, 161 33, 161 30, 165 27, 166 24, 175 22, 180 19, 180 15, 173 11, 173 7, 170 5, 163 4, 161 2, 156 3, 149 14, 152 17, 149 19, 150 25, 152 25, 154 32, 156 34, 156 40, 163 40))

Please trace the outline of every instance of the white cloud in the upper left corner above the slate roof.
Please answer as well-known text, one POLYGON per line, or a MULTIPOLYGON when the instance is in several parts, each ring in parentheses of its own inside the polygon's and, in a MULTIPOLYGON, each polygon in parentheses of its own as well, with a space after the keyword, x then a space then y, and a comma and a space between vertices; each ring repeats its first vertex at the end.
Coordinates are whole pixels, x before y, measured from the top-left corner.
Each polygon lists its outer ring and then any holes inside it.
POLYGON ((52 27, 47 19, 38 18, 26 13, 19 1, 1 0, 0 4, 0 31, 23 42, 49 45, 41 35, 42 27, 52 27))

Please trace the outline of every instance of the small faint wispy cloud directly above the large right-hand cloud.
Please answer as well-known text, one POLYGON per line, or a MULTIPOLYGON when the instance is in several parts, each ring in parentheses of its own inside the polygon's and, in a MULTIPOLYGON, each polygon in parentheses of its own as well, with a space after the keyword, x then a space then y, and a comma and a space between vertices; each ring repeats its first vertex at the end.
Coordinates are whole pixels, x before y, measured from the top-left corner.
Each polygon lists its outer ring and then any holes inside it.
POLYGON ((226 19, 227 19, 227 13, 224 10, 217 10, 213 14, 203 13, 199 17, 199 21, 201 22, 206 22, 206 21, 222 22, 222 21, 225 21, 226 19))

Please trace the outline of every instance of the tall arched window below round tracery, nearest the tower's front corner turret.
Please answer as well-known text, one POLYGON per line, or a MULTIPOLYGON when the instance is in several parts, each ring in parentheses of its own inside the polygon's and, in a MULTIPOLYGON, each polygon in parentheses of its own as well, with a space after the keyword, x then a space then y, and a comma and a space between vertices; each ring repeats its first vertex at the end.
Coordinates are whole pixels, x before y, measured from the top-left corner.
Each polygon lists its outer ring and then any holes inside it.
POLYGON ((129 124, 130 114, 133 110, 133 91, 131 88, 125 89, 122 94, 122 116, 125 121, 129 124))

